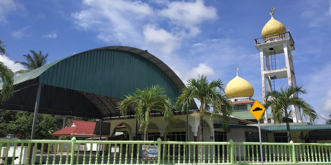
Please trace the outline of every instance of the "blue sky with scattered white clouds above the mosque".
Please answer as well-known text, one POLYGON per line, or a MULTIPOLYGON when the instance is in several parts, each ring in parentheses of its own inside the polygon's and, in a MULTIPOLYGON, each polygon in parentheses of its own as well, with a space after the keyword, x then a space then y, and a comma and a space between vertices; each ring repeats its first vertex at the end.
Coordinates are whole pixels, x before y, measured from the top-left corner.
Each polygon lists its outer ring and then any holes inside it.
MULTIPOLYGON (((148 50, 184 81, 198 74, 229 82, 249 81, 261 100, 259 51, 254 39, 274 18, 295 41, 297 83, 319 115, 331 114, 331 1, 167 1, 167 0, 34 0, 0 1, 0 39, 14 71, 29 50, 49 54, 48 62, 103 46, 148 50)), ((283 57, 284 58, 284 57, 283 57)), ((282 56, 277 66, 284 65, 282 56)), ((286 80, 275 81, 276 89, 286 80)), ((321 117, 318 121, 324 123, 321 117)))

